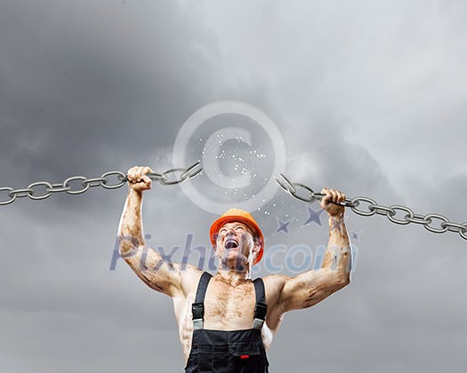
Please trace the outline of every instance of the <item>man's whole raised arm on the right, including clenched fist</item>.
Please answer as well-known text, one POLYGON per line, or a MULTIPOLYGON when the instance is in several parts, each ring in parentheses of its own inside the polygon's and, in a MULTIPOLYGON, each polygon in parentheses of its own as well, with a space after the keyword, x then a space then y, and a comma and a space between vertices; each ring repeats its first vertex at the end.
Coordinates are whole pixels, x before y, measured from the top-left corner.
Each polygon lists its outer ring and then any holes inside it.
POLYGON ((327 211, 329 219, 329 242, 323 264, 318 270, 284 276, 278 299, 283 312, 314 306, 350 283, 350 240, 344 223, 345 208, 339 204, 345 201, 345 194, 327 188, 321 193, 326 194, 321 208, 327 211))

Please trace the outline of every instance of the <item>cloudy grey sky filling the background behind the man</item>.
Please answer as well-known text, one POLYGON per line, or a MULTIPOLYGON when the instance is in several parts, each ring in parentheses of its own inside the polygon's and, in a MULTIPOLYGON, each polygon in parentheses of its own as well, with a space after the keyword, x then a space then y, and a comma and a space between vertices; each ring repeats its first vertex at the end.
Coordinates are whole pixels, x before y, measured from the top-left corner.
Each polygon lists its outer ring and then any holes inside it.
MULTIPOLYGON (((454 0, 3 0, 0 187, 135 164, 186 166, 229 126, 250 139, 221 143, 224 153, 214 159, 223 177, 248 174, 250 184, 222 189, 207 171, 185 185, 215 202, 253 203, 274 176, 278 145, 245 115, 200 125, 185 162, 173 164, 190 115, 235 100, 277 127, 290 179, 462 223, 466 17, 467 4, 454 0)), ((183 369, 170 298, 121 260, 110 270, 126 190, 94 187, 0 207, 2 372, 183 369)), ((278 267, 296 274, 305 254, 316 256, 327 242, 324 215, 322 226, 305 225, 307 205, 275 191, 254 216, 266 253, 279 244, 286 250, 254 277, 278 267), (288 233, 277 232, 278 219, 290 221, 288 233)), ((208 247, 216 215, 195 200, 181 187, 155 184, 144 202, 150 244, 168 252, 190 236, 208 247)), ((310 208, 318 211, 316 203, 310 208)), ((318 306, 286 314, 271 371, 463 372, 467 242, 346 215, 358 236, 352 282, 318 306)))

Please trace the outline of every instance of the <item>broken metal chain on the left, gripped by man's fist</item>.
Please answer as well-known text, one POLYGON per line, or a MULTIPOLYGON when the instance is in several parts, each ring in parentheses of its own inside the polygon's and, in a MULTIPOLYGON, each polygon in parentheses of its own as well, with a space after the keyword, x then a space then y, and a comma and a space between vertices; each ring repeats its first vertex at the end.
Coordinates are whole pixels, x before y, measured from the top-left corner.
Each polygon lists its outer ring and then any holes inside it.
MULTIPOLYGON (((163 186, 180 184, 185 180, 194 178, 203 169, 199 166, 199 161, 187 169, 171 169, 164 173, 149 172, 149 179, 158 181, 163 186), (178 178, 177 173, 180 173, 178 178)), ((17 198, 29 197, 32 200, 44 200, 54 193, 66 192, 68 194, 82 194, 90 187, 103 187, 105 189, 117 189, 123 187, 128 181, 127 175, 122 171, 108 171, 99 178, 85 178, 84 176, 74 176, 64 180, 62 183, 51 184, 47 181, 37 181, 30 184, 28 187, 21 189, 13 189, 12 187, 0 187, 0 193, 6 192, 7 200, 0 199, 0 206, 10 204, 17 198), (112 181, 109 178, 114 178, 112 181), (41 190, 43 189, 42 194, 41 190)))

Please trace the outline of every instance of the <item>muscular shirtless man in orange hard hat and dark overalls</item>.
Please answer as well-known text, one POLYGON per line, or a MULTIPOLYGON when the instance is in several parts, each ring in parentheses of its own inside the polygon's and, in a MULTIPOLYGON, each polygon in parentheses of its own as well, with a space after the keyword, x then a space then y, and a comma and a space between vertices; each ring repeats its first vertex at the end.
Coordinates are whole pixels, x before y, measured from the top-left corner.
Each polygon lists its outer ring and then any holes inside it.
POLYGON ((338 204, 345 195, 322 190, 329 242, 321 268, 252 281, 251 269, 264 250, 263 236, 252 215, 243 210, 231 209, 211 226, 219 258, 213 276, 195 266, 173 264, 146 247, 141 205, 143 191, 151 187, 149 172, 149 167, 128 171, 119 251, 143 282, 173 299, 185 372, 268 372, 266 351, 284 313, 314 306, 350 283, 350 241, 344 207, 338 204))

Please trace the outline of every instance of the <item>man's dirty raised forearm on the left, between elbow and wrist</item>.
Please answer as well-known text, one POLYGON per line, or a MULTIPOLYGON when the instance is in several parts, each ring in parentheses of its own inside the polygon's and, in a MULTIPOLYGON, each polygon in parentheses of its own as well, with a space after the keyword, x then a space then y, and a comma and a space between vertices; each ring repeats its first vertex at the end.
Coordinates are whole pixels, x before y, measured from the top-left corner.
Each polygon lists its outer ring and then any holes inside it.
POLYGON ((119 250, 122 257, 145 243, 142 234, 141 207, 142 193, 129 188, 118 226, 119 250))

